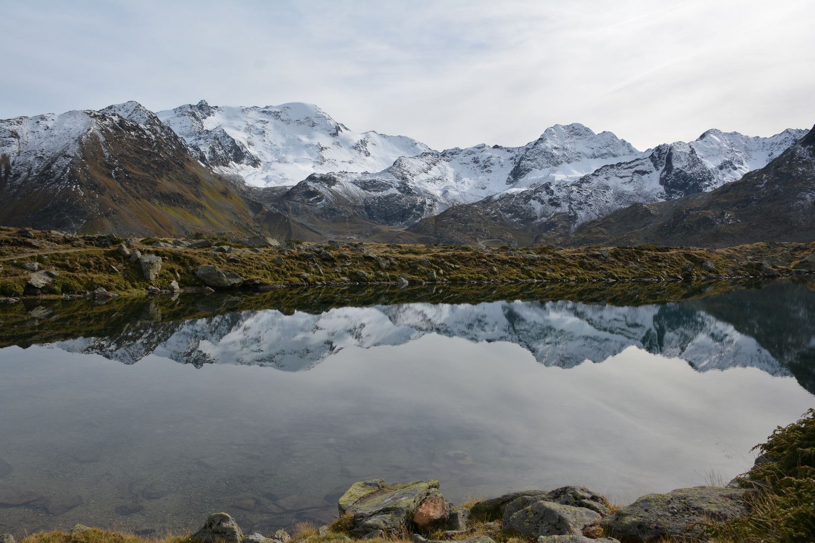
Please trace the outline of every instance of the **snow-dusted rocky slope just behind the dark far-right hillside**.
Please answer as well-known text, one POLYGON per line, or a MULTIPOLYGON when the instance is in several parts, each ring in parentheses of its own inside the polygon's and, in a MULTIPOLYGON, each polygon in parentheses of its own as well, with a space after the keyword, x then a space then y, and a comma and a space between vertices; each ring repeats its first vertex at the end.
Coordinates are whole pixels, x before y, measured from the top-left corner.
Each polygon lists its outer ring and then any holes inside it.
POLYGON ((708 130, 694 142, 663 144, 574 181, 532 184, 449 209, 410 230, 451 243, 478 239, 526 243, 535 234, 568 234, 586 221, 631 204, 716 189, 764 166, 804 134, 805 130, 788 129, 769 138, 750 138, 708 130))

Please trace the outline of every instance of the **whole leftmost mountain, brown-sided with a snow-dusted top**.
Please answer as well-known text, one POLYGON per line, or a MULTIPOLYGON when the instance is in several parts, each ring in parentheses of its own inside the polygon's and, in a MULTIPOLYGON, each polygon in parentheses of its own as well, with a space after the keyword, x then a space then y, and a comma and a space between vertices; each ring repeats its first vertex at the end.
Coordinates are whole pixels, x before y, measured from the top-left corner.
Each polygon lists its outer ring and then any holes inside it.
POLYGON ((0 121, 0 222, 114 234, 252 232, 216 176, 138 103, 0 121))

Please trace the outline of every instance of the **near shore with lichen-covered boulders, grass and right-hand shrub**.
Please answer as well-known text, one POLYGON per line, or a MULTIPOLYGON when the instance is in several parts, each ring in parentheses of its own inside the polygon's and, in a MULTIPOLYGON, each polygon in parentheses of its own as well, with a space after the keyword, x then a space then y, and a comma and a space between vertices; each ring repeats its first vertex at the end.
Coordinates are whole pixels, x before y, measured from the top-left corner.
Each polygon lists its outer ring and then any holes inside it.
MULTIPOLYGON (((209 515, 191 536, 161 543, 611 543, 632 541, 789 541, 815 539, 815 409, 773 431, 756 447, 756 465, 726 487, 648 494, 624 507, 583 486, 526 490, 454 506, 438 481, 359 481, 337 502, 337 519, 272 536, 245 535, 227 513, 209 515)), ((20 530, 23 531, 22 529, 20 530)), ((34 534, 23 543, 142 543, 136 536, 77 525, 70 533, 34 534)), ((0 543, 15 543, 10 534, 0 543)))

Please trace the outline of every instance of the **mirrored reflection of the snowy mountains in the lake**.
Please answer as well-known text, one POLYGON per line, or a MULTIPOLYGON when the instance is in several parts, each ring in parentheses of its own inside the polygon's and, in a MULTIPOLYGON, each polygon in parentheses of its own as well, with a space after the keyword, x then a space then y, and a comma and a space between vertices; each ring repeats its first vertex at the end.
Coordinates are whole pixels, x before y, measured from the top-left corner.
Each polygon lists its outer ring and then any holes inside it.
POLYGON ((343 348, 400 345, 427 334, 470 341, 508 341, 546 366, 601 362, 635 346, 680 357, 695 369, 757 367, 786 375, 755 339, 708 313, 682 304, 615 307, 557 302, 399 304, 331 309, 320 314, 277 310, 229 313, 128 330, 119 338, 51 344, 132 364, 150 353, 174 361, 238 363, 307 370, 343 348))

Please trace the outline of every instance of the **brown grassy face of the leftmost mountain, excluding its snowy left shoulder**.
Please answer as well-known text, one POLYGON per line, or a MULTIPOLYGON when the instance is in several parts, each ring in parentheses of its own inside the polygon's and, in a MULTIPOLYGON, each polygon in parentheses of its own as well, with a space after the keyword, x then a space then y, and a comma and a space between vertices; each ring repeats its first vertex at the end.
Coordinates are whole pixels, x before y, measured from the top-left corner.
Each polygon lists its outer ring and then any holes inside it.
POLYGON ((65 169, 11 169, 0 224, 120 235, 261 230, 236 187, 194 160, 169 129, 156 135, 92 115, 95 129, 65 169))

